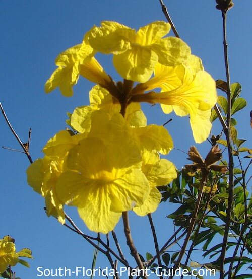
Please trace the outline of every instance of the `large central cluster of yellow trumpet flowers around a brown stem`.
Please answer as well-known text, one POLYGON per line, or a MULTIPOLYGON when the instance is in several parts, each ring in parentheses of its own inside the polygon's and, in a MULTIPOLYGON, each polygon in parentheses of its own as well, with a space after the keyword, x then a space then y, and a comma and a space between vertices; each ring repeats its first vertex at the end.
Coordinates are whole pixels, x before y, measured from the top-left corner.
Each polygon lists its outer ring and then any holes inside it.
POLYGON ((173 142, 163 126, 147 125, 140 102, 160 103, 165 113, 189 114, 195 141, 206 140, 217 100, 215 82, 186 43, 165 37, 169 30, 162 21, 137 32, 104 21, 56 58, 47 93, 59 87, 71 96, 80 75, 96 85, 90 104, 70 116, 72 130, 52 137, 45 157, 27 170, 28 183, 45 198, 48 216, 64 223, 64 205, 76 206, 90 230, 107 233, 122 212, 144 216, 156 210, 161 199, 156 187, 177 176, 174 165, 159 155, 168 154, 173 142), (123 82, 104 71, 97 52, 113 55, 123 82))

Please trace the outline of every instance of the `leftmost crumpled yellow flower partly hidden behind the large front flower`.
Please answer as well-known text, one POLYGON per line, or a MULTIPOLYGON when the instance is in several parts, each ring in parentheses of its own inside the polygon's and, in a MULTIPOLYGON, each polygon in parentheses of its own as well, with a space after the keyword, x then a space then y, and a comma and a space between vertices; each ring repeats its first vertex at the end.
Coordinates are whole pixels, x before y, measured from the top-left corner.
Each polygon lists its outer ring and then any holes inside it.
POLYGON ((58 132, 44 147, 46 156, 33 162, 26 171, 28 184, 45 198, 47 216, 56 217, 61 224, 65 223, 64 202, 55 192, 57 179, 65 170, 64 162, 69 150, 83 137, 84 134, 71 135, 66 130, 58 132))

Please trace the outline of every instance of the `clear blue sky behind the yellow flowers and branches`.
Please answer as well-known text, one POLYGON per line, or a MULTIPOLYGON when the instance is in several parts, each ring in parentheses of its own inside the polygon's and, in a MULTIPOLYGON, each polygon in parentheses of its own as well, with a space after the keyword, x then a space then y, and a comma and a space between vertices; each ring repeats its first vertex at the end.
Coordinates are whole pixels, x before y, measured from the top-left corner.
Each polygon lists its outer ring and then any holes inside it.
MULTIPOLYGON (((234 1, 235 6, 228 14, 228 43, 231 82, 242 85, 241 97, 246 98, 247 107, 237 113, 239 138, 247 138, 251 143, 249 112, 251 110, 251 30, 252 14, 250 0, 234 1)), ((215 9, 215 1, 165 1, 180 37, 191 47, 192 53, 200 56, 204 67, 215 80, 225 80, 222 44, 221 13, 215 9)), ((65 49, 79 44, 83 35, 94 24, 102 20, 118 21, 138 29, 152 21, 165 20, 159 1, 1 1, 0 2, 0 61, 1 93, 0 101, 11 123, 23 142, 27 142, 29 128, 32 128, 30 152, 33 160, 43 156, 41 149, 57 131, 65 129, 66 112, 76 106, 88 104, 88 91, 92 83, 79 80, 74 87, 74 96, 63 97, 58 90, 44 93, 44 83, 55 69, 56 56, 65 49)), ((170 33, 171 35, 172 32, 170 33)), ((111 57, 97 56, 115 80, 111 57)), ((165 115, 158 105, 144 105, 149 123, 163 124, 171 133, 177 149, 187 151, 195 145, 187 117, 165 115)), ((19 146, 9 131, 3 117, 0 118, 0 145, 9 148, 19 146)), ((218 133, 219 125, 213 130, 218 133)), ((248 144, 246 145, 248 146, 248 144)), ((249 146, 248 146, 249 147, 249 146)), ((209 148, 205 142, 197 145, 204 156, 209 148)), ((168 156, 177 168, 185 165, 186 154, 174 150, 168 156)), ((59 266, 91 266, 93 248, 78 235, 62 227, 54 218, 44 213, 44 200, 26 182, 27 158, 21 153, 0 149, 1 203, 0 238, 11 235, 16 239, 17 249, 29 247, 34 260, 29 260, 31 268, 16 266, 17 275, 35 278, 37 266, 53 268, 59 266)), ((174 205, 162 204, 153 214, 160 243, 173 232, 172 223, 165 218, 174 211, 174 205)), ((69 214, 87 232, 79 220, 75 208, 68 208, 69 214)), ((133 236, 142 254, 154 254, 147 218, 136 218, 130 214, 133 236), (148 249, 147 249, 148 247, 148 249)), ((121 222, 116 232, 125 247, 121 222)), ((200 259, 198 259, 200 260, 200 259)), ((105 265, 99 255, 98 264, 105 265)))

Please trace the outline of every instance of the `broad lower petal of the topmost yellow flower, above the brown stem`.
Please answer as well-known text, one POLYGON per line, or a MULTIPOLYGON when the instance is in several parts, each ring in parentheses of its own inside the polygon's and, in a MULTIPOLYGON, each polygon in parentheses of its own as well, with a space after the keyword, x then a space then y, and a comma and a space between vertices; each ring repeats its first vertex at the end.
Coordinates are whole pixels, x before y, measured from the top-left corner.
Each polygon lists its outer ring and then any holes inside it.
POLYGON ((141 83, 149 80, 157 61, 154 51, 141 46, 113 56, 114 67, 124 79, 141 83))

